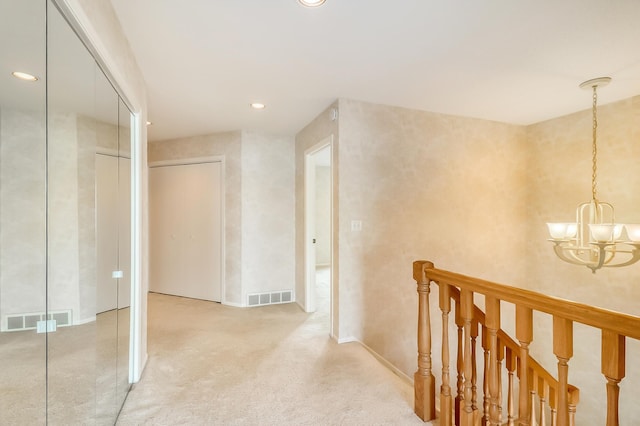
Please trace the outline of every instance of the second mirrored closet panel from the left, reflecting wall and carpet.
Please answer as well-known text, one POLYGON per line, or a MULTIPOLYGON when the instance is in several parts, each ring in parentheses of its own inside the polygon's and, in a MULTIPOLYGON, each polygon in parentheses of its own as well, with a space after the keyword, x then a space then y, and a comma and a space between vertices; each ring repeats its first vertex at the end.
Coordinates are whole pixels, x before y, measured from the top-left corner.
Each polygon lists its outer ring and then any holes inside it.
POLYGON ((97 411, 96 190, 92 119, 96 66, 56 7, 48 7, 48 421, 80 424, 97 411), (66 321, 65 321, 66 320, 66 321), (71 402, 71 403, 70 403, 71 402))

